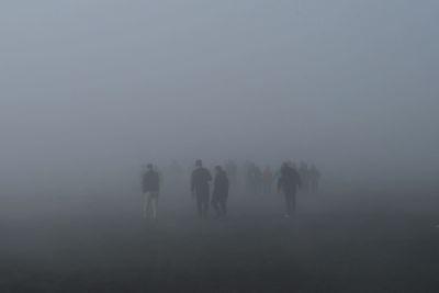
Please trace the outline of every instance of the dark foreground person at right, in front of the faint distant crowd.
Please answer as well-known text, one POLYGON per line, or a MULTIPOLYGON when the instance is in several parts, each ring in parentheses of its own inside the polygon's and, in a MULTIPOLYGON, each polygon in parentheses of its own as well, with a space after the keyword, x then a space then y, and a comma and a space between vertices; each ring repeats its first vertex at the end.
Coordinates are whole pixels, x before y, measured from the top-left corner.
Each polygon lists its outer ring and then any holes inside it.
POLYGON ((302 181, 299 172, 284 162, 278 180, 278 191, 282 191, 285 196, 285 217, 292 216, 295 211, 295 194, 301 184, 302 181))

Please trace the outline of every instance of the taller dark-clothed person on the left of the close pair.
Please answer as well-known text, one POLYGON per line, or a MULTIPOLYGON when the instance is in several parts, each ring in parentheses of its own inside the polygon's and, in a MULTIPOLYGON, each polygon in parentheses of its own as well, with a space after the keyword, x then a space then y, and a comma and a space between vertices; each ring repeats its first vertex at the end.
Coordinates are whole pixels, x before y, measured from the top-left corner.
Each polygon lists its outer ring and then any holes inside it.
POLYGON ((196 198, 198 213, 201 218, 207 217, 209 211, 209 182, 212 181, 212 176, 207 169, 203 167, 202 160, 196 160, 196 169, 192 172, 191 191, 196 198))

